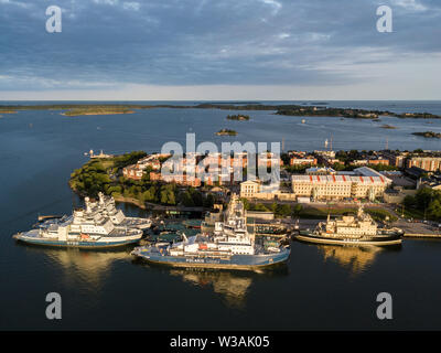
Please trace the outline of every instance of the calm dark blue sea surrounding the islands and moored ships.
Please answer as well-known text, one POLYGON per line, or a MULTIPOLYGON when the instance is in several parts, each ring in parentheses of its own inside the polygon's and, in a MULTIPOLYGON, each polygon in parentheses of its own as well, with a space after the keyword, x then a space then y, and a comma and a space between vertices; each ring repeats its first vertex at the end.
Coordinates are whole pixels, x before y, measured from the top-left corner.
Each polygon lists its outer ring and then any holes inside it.
MULTIPOLYGON (((441 101, 326 103, 441 115, 441 101)), ((15 232, 30 228, 39 214, 71 213, 77 200, 67 181, 87 161, 84 152, 90 149, 153 152, 168 141, 184 143, 185 133, 194 132, 196 142, 283 141, 284 150, 323 149, 326 139, 336 150, 383 149, 386 143, 391 149, 441 150, 440 140, 411 135, 441 132, 441 120, 306 117, 302 124, 301 117, 245 111, 250 121, 228 121, 227 114, 154 108, 115 116, 29 110, 0 117, 0 329, 440 329, 437 240, 406 240, 392 250, 293 243, 286 267, 238 274, 150 267, 135 261, 130 248, 50 249, 11 239, 15 232), (384 124, 396 129, 383 129, 384 124), (222 128, 238 136, 216 137, 222 128), (53 291, 63 298, 63 319, 56 322, 45 319, 45 296, 53 291), (375 314, 376 296, 384 291, 394 298, 394 319, 387 322, 375 314)))

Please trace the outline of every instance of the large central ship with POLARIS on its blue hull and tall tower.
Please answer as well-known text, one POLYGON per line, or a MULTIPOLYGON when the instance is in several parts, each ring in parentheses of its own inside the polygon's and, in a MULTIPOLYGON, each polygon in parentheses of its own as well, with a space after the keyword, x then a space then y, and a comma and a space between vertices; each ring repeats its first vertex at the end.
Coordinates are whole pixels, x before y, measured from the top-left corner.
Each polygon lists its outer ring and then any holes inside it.
POLYGON ((286 263, 289 246, 265 247, 249 233, 244 203, 232 195, 224 220, 216 222, 213 234, 200 233, 175 243, 136 247, 132 255, 148 263, 172 267, 201 267, 256 270, 286 263))

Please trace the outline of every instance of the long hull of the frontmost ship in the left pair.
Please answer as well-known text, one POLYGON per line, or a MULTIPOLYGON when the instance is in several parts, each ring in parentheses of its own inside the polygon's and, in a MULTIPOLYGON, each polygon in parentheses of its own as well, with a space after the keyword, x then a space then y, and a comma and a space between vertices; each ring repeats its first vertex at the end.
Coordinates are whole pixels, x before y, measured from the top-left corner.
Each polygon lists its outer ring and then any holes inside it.
POLYGON ((89 249, 103 249, 103 248, 111 248, 118 246, 126 246, 130 244, 139 243, 139 238, 137 239, 123 239, 123 240, 114 240, 114 242, 84 242, 84 240, 57 240, 57 239, 44 239, 44 238, 35 238, 35 237, 26 237, 20 234, 13 236, 18 242, 22 242, 25 244, 39 245, 39 246, 50 246, 50 247, 76 247, 76 248, 89 248, 89 249))

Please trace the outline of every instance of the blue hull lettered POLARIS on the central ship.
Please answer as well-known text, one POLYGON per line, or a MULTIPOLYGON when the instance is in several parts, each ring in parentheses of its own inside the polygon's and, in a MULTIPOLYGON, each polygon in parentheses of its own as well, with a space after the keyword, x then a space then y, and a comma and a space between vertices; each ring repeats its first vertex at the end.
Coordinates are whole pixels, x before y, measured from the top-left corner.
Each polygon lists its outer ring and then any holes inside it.
POLYGON ((229 258, 170 256, 149 250, 132 252, 132 255, 148 263, 170 267, 200 267, 233 270, 257 270, 283 264, 290 256, 290 249, 265 255, 233 255, 229 258))

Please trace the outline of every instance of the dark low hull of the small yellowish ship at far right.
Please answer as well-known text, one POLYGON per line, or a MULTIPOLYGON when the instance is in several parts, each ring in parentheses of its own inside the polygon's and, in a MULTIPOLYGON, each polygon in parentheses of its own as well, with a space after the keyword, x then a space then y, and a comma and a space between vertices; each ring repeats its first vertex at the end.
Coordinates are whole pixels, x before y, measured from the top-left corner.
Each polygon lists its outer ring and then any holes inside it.
POLYGON ((300 233, 294 236, 295 239, 315 244, 329 244, 329 245, 351 245, 351 246, 390 246, 401 244, 401 235, 388 235, 378 237, 364 237, 364 238, 351 238, 342 236, 326 237, 320 236, 312 233, 300 233))

